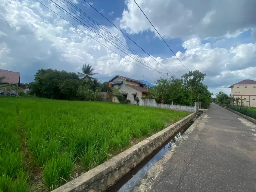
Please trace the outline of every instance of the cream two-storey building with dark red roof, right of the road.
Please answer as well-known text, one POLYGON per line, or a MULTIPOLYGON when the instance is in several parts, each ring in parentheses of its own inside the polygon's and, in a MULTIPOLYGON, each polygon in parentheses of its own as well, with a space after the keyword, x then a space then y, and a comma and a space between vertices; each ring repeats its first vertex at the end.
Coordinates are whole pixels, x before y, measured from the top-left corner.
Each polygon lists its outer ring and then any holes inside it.
MULTIPOLYGON (((245 79, 231 85, 229 88, 231 88, 231 97, 241 98, 241 106, 256 107, 256 81, 245 79)), ((234 104, 234 102, 231 104, 234 104)))

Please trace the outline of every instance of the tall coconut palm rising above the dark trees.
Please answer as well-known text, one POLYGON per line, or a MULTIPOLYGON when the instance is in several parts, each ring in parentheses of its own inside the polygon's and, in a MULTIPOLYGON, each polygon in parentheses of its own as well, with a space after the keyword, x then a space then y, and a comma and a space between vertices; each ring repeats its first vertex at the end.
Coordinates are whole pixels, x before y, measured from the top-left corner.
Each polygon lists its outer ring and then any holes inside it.
POLYGON ((93 71, 95 70, 94 67, 92 67, 92 65, 90 64, 83 64, 82 67, 82 73, 77 72, 78 76, 83 79, 83 85, 87 85, 88 87, 92 87, 92 85, 94 84, 94 80, 95 78, 93 78, 93 75, 96 75, 98 73, 93 73, 93 71))

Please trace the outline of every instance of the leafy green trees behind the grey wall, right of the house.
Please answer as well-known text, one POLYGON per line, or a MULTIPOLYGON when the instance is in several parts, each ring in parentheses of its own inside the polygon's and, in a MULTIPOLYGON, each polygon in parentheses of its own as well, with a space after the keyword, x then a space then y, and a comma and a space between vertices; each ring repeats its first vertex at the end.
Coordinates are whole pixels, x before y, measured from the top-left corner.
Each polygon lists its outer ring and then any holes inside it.
POLYGON ((202 107, 211 103, 212 92, 204 85, 206 74, 199 70, 190 71, 182 75, 181 79, 167 76, 157 80, 157 85, 149 89, 145 98, 154 98, 158 103, 194 106, 195 101, 200 101, 202 107))

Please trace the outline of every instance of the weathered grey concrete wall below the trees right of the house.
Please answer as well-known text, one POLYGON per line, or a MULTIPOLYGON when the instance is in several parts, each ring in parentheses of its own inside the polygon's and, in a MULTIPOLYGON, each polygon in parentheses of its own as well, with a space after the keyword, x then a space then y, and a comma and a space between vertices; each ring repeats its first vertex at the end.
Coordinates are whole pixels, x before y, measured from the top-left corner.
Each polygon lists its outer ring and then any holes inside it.
POLYGON ((161 104, 157 103, 155 99, 139 99, 139 105, 145 106, 145 107, 157 107, 157 108, 163 108, 163 109, 174 109, 174 110, 180 110, 180 111, 189 111, 189 112, 196 112, 201 107, 201 102, 195 102, 195 106, 184 106, 184 105, 173 105, 173 102, 171 105, 168 104, 161 104))

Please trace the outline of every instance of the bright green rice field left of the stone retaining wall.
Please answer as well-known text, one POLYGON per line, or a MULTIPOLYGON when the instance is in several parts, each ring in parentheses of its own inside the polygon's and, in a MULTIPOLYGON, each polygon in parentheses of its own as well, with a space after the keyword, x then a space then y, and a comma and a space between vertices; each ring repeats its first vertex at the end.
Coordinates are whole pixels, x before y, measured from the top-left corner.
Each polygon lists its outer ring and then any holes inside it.
POLYGON ((104 102, 0 97, 0 191, 53 190, 189 113, 104 102))

